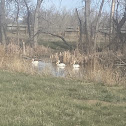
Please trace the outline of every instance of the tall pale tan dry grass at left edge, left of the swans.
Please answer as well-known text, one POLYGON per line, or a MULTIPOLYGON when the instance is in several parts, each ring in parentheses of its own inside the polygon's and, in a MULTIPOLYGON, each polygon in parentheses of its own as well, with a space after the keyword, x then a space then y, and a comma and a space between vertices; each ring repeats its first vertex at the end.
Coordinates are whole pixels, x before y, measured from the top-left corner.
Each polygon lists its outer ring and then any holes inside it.
POLYGON ((20 50, 15 45, 7 46, 6 50, 0 45, 0 68, 23 73, 33 73, 34 70, 31 67, 31 61, 21 58, 20 53, 20 50))

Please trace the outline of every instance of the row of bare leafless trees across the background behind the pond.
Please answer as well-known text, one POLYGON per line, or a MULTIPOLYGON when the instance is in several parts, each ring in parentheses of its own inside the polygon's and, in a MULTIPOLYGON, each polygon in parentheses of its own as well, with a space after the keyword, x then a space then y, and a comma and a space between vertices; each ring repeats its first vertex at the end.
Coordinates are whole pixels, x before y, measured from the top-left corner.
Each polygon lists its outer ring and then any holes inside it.
POLYGON ((66 28, 78 28, 77 49, 80 52, 86 54, 97 52, 100 32, 107 36, 108 40, 103 49, 120 50, 124 53, 126 44, 125 0, 109 2, 107 0, 83 0, 82 8, 75 8, 73 11, 57 10, 54 7, 45 9, 42 5, 43 0, 37 0, 36 5, 32 5, 32 2, 27 0, 0 0, 0 43, 5 47, 8 43, 7 24, 17 25, 17 43, 20 41, 20 24, 27 25, 27 42, 31 47, 38 46, 38 35, 41 33, 59 37, 68 45, 61 33, 66 28))

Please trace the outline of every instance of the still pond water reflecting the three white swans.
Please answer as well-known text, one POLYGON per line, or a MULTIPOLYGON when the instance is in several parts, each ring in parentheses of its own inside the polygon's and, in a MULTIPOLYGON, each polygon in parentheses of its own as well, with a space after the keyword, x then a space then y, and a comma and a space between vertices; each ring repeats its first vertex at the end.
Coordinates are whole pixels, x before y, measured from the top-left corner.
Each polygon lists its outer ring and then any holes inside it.
POLYGON ((49 61, 39 61, 38 66, 35 67, 40 73, 51 74, 55 77, 83 77, 86 73, 84 67, 73 68, 72 65, 66 65, 64 68, 58 67, 55 63, 49 61))

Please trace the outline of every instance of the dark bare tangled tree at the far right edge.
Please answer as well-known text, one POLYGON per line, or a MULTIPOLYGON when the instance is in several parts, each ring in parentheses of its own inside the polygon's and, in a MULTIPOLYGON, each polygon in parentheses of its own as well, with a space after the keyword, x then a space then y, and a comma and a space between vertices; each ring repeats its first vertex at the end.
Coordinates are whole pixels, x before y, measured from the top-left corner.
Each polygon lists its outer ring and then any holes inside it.
MULTIPOLYGON (((113 3, 112 3, 113 4, 113 3)), ((113 27, 110 28, 110 43, 108 45, 108 47, 110 49, 112 49, 113 51, 122 51, 123 53, 123 49, 124 49, 124 46, 125 46, 125 42, 126 42, 126 34, 125 33, 122 33, 121 29, 123 28, 125 22, 126 22, 126 5, 124 4, 121 4, 121 2, 118 0, 117 1, 117 7, 116 7, 116 17, 113 17, 113 20, 112 20, 112 25, 113 27), (124 12, 123 12, 123 15, 120 16, 119 18, 119 14, 118 9, 119 6, 123 6, 124 8, 122 9, 124 12)))

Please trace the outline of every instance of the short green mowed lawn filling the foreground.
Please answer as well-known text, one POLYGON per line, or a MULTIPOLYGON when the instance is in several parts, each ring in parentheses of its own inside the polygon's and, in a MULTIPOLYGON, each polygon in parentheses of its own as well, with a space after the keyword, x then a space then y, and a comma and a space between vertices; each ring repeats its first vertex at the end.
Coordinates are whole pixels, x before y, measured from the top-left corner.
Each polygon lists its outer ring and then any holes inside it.
POLYGON ((126 87, 0 71, 0 126, 126 126, 126 87))

